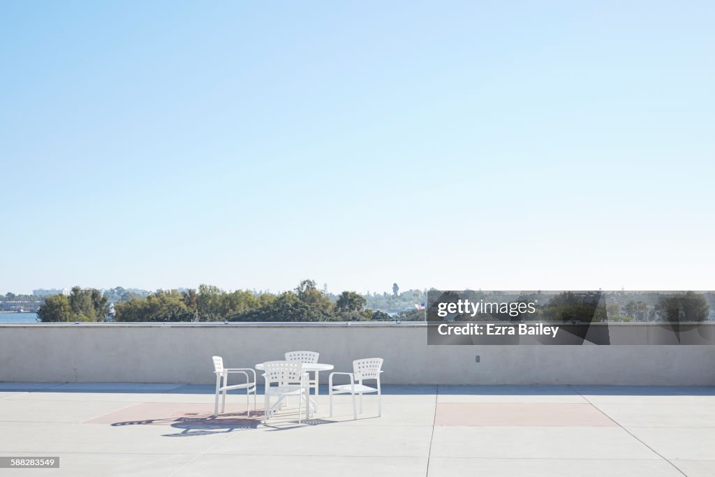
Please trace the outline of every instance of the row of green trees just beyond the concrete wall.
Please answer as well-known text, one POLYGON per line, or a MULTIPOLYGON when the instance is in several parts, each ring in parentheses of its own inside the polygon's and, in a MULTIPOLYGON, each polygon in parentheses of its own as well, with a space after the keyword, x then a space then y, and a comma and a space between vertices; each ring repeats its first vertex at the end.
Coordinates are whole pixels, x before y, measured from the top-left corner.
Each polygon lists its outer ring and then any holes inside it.
MULTIPOLYGON (((399 293, 393 286, 393 303, 414 302, 420 290, 399 293)), ((473 301, 488 298, 483 292, 468 291, 473 301)), ((118 293, 118 295, 124 295, 118 293)), ((114 303, 112 310, 106 294, 92 288, 74 287, 69 296, 51 295, 37 311, 43 322, 117 321, 117 322, 316 322, 316 321, 368 321, 425 319, 420 310, 402 310, 388 315, 383 310, 368 306, 371 298, 382 295, 360 295, 344 291, 340 295, 328 295, 318 290, 314 280, 302 280, 294 290, 272 294, 252 290, 227 292, 212 285, 200 285, 198 289, 183 292, 178 290, 149 293, 146 296, 124 295, 127 300, 114 303)), ((505 295, 506 296, 506 295, 505 295)), ((655 305, 641 300, 631 300, 625 305, 606 304, 600 292, 563 292, 546 296, 534 295, 510 297, 523 303, 536 301, 537 313, 520 317, 508 314, 481 313, 475 317, 459 317, 457 320, 541 320, 557 322, 605 322, 605 321, 667 321, 700 322, 708 320, 710 307, 706 297, 696 292, 675 293, 660 296, 655 305), (541 299, 541 300, 540 300, 541 299)), ((413 305, 414 306, 414 305, 413 305)))

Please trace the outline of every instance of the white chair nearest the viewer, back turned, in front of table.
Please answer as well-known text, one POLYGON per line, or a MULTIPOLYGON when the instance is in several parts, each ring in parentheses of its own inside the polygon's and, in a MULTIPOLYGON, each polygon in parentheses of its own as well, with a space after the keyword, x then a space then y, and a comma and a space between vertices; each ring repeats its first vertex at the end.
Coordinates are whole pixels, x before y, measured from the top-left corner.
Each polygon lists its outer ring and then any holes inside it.
POLYGON ((273 417, 275 408, 288 396, 298 396, 298 423, 302 415, 302 405, 305 400, 306 418, 310 417, 310 395, 307 373, 303 373, 303 363, 300 361, 267 361, 263 363, 263 378, 265 378, 265 413, 263 423, 273 417), (276 396, 277 402, 273 407, 270 398, 276 396))

